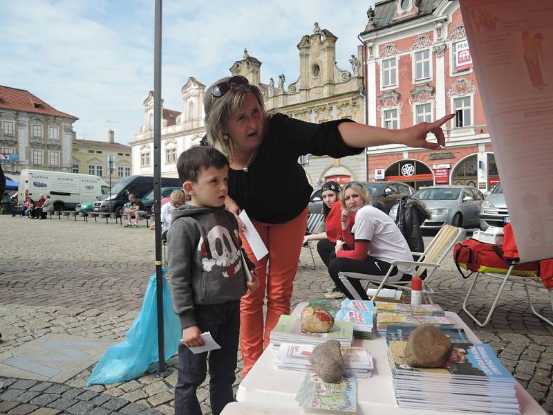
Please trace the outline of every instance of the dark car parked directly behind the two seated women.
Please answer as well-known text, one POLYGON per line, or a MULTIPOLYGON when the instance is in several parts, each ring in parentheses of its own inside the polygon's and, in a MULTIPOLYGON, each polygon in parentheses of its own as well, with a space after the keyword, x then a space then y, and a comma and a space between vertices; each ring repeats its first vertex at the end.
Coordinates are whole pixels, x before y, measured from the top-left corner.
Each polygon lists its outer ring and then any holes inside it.
MULTIPOLYGON (((410 185, 398 181, 384 181, 362 183, 362 185, 371 194, 371 204, 384 212, 390 212, 393 205, 400 202, 403 196, 409 196, 415 193, 415 189, 410 185)), ((309 201, 310 213, 321 213, 323 209, 323 199, 321 189, 314 190, 309 201)))

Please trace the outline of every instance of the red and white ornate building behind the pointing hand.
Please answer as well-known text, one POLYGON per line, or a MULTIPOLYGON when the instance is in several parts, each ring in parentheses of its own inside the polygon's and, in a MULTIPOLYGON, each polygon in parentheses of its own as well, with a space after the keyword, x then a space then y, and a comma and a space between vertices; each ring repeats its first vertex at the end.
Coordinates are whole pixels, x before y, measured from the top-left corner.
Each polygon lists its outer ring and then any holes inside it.
POLYGON ((458 1, 382 0, 367 12, 364 42, 368 124, 399 129, 449 113, 439 151, 369 147, 370 181, 418 188, 466 184, 488 190, 499 177, 458 1))

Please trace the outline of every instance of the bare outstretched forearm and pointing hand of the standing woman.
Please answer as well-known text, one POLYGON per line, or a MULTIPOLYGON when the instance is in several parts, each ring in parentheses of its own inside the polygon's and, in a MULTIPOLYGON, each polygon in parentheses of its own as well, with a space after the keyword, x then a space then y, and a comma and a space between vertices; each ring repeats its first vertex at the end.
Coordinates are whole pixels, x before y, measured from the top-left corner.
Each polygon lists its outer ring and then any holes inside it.
POLYGON ((358 124, 357 122, 342 122, 338 125, 338 131, 344 142, 350 147, 403 144, 409 147, 435 150, 445 145, 444 131, 442 131, 441 125, 454 116, 455 114, 450 114, 434 122, 420 122, 413 127, 399 130, 358 124), (428 133, 433 133, 438 142, 427 141, 428 133))

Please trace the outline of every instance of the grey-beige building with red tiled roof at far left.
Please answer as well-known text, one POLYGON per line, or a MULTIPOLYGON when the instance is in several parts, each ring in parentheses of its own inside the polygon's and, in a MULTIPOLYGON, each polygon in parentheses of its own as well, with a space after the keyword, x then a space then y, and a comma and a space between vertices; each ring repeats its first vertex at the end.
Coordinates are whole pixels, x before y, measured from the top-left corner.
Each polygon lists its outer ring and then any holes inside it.
POLYGON ((0 152, 4 172, 15 180, 26 168, 71 172, 73 122, 77 120, 29 91, 0 86, 0 152))

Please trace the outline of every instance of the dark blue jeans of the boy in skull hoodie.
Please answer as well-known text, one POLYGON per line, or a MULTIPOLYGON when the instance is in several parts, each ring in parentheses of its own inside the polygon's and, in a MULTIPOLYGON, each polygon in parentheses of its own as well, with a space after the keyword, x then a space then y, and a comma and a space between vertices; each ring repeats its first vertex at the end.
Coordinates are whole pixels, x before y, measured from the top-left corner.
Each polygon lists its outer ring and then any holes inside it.
POLYGON ((209 331, 221 349, 195 355, 184 344, 179 345, 175 415, 202 415, 196 389, 205 380, 206 360, 209 360, 209 401, 213 415, 218 415, 227 403, 234 401, 232 384, 238 360, 240 300, 196 305, 194 315, 200 331, 209 331))

